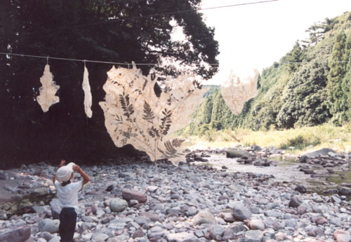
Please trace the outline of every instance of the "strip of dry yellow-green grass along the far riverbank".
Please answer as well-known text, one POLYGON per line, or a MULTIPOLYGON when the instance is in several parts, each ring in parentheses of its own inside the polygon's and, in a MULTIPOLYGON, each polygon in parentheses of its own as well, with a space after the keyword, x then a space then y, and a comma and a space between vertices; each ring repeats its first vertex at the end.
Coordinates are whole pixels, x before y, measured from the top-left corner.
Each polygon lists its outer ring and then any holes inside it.
POLYGON ((285 130, 253 131, 251 129, 223 129, 207 131, 203 136, 183 136, 188 145, 201 144, 203 147, 233 147, 234 145, 260 145, 282 148, 295 154, 319 148, 351 152, 351 125, 336 127, 321 124, 314 127, 300 127, 285 130))

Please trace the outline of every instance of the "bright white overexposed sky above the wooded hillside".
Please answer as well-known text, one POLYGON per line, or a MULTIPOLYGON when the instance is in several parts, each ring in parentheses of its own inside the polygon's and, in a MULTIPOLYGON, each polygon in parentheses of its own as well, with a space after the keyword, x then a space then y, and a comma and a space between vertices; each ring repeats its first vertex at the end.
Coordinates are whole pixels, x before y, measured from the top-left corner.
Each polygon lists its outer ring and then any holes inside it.
MULTIPOLYGON (((264 0, 203 0, 201 8, 264 0)), ((350 0, 279 0, 246 6, 202 10, 215 28, 220 71, 204 84, 220 85, 234 71, 239 76, 279 62, 312 24, 351 10, 350 0)))

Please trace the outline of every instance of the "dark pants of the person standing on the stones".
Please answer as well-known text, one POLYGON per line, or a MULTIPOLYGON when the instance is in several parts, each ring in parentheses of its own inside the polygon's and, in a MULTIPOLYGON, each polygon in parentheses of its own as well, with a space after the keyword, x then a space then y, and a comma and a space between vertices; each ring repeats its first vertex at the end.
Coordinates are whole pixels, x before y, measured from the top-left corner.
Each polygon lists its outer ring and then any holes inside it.
POLYGON ((74 208, 62 208, 60 213, 60 233, 61 242, 72 242, 74 229, 76 228, 77 213, 74 208))

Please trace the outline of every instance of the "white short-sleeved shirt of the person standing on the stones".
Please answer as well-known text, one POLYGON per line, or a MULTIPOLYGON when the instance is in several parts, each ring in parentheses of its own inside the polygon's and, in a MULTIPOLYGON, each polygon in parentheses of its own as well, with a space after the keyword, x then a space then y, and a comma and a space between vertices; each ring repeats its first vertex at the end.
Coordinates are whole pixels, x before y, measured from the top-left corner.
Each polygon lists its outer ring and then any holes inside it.
POLYGON ((55 187, 58 191, 58 200, 61 208, 74 208, 78 211, 78 192, 83 188, 83 180, 77 183, 69 183, 62 187, 61 183, 55 180, 55 187))

